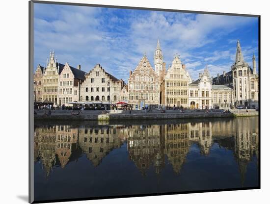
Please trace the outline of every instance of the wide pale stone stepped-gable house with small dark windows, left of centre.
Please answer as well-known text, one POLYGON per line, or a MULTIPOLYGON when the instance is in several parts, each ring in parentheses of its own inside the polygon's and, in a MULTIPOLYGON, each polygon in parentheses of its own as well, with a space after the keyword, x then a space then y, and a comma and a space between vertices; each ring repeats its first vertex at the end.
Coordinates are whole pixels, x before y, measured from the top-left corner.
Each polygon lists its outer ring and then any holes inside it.
POLYGON ((97 64, 90 72, 85 74, 85 80, 81 84, 80 101, 96 104, 119 102, 123 86, 124 81, 122 79, 113 77, 97 64))

